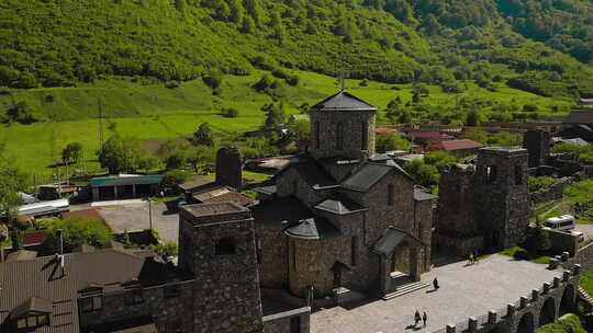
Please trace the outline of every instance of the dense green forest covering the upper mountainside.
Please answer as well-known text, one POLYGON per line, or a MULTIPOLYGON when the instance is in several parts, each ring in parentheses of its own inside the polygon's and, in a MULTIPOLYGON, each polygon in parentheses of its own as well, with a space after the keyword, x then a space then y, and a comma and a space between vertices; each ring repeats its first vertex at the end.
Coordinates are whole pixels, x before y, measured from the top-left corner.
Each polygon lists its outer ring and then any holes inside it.
POLYGON ((450 93, 472 80, 593 96, 589 1, 5 0, 0 12, 10 88, 295 68, 450 93))

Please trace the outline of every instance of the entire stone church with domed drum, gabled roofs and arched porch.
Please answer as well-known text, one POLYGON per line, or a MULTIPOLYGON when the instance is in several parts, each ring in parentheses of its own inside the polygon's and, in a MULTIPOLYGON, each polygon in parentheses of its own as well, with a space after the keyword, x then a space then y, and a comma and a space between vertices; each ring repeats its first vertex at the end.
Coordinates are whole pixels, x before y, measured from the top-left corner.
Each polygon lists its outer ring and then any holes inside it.
POLYGON ((262 288, 390 298, 426 286, 434 197, 376 153, 376 113, 346 91, 314 105, 307 151, 257 190, 262 288))

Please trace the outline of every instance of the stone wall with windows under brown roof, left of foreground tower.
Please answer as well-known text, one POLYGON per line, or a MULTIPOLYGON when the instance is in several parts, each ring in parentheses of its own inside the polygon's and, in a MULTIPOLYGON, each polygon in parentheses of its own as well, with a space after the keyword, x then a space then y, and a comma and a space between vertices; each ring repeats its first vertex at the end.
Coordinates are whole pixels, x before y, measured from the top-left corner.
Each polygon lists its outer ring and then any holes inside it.
MULTIPOLYGON (((188 314, 188 309, 193 307, 193 282, 168 284, 168 286, 177 286, 179 294, 175 296, 166 294, 165 286, 143 288, 144 301, 135 305, 126 303, 128 292, 126 290, 104 292, 101 310, 79 311, 80 324, 88 328, 124 319, 150 317, 158 332, 175 333, 178 330, 193 332, 193 317, 191 312, 188 314)), ((81 309, 80 305, 78 309, 81 309)))

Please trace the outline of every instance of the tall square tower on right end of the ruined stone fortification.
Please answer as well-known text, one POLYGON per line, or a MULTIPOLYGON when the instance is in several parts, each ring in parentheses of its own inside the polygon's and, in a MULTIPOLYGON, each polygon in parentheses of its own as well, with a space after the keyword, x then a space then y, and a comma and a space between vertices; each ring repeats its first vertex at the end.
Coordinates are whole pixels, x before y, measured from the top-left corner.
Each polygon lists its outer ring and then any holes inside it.
POLYGON ((482 148, 475 169, 475 221, 485 248, 523 241, 529 219, 527 149, 482 148))

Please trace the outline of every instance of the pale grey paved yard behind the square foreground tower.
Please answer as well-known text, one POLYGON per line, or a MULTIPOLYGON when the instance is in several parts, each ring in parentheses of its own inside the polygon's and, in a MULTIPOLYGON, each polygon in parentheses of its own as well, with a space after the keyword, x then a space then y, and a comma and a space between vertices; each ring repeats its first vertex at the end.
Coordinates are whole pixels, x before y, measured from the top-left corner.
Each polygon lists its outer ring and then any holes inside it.
MULTIPOLYGON (((150 227, 147 202, 130 202, 124 205, 94 208, 116 233, 124 232, 124 230, 139 231, 150 227)), ((179 215, 168 213, 167 206, 163 203, 153 203, 153 228, 164 240, 177 242, 179 215)))

